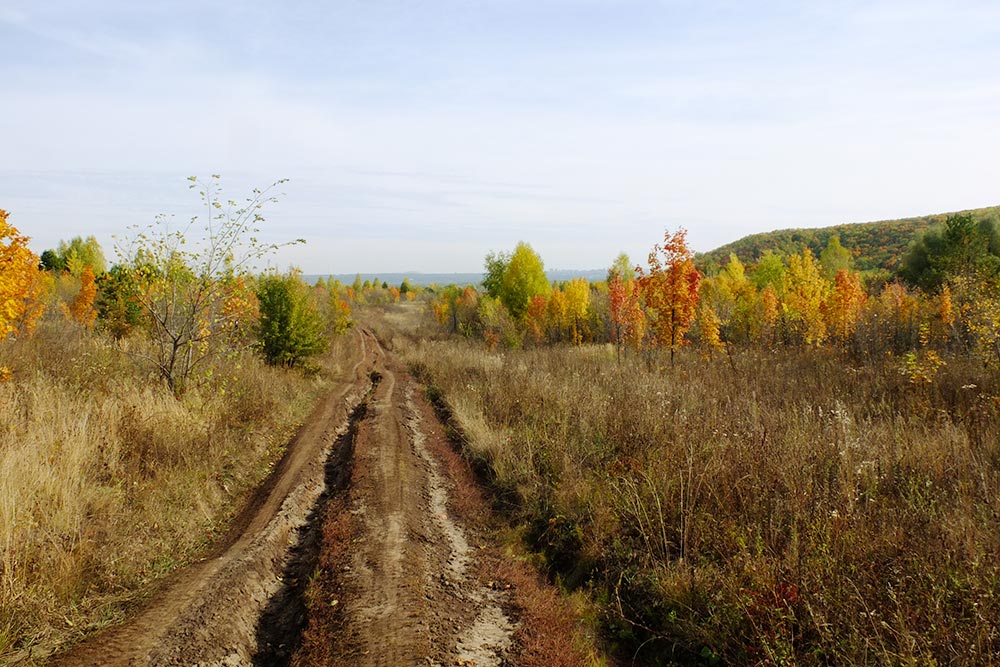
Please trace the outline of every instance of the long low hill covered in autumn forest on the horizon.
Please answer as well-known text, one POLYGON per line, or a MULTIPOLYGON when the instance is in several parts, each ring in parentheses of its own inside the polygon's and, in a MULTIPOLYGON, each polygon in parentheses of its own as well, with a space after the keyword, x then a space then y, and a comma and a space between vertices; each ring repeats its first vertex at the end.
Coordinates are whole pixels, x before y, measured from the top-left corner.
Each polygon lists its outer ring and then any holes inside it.
MULTIPOLYGON (((992 217, 1000 222, 1000 206, 956 212, 972 213, 976 220, 992 217)), ((699 253, 695 261, 700 268, 710 270, 713 266, 721 266, 729 261, 730 253, 735 253, 744 264, 754 264, 767 250, 787 254, 801 252, 803 247, 812 249, 813 254, 818 257, 830 237, 837 234, 840 236, 840 244, 854 253, 855 268, 861 271, 870 269, 895 271, 910 241, 919 232, 936 223, 944 222, 949 215, 952 213, 834 225, 817 229, 780 229, 763 234, 751 234, 710 252, 699 253)))

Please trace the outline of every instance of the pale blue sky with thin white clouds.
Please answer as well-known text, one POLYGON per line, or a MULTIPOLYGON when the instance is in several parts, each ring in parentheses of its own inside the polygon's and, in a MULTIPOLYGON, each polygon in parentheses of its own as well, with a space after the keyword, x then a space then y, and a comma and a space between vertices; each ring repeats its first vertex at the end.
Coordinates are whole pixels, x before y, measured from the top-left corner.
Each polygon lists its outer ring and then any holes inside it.
MULTIPOLYGON (((288 179, 271 263, 474 272, 1000 203, 1000 3, 0 0, 36 252, 288 179)), ((117 241, 113 238, 117 237, 117 241)))

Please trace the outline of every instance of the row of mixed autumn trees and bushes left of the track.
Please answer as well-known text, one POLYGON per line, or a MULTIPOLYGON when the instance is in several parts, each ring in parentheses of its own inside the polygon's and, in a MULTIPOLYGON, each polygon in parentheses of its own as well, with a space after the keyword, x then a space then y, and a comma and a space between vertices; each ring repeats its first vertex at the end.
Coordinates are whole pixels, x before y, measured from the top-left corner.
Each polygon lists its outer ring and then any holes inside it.
POLYGON ((0 341, 31 336, 46 313, 110 339, 141 339, 132 354, 177 395, 211 357, 252 348, 270 364, 303 366, 324 351, 350 326, 348 289, 307 285, 294 269, 254 273, 281 245, 257 235, 284 181, 237 203, 222 197, 218 176, 189 180, 204 214, 130 228, 110 268, 94 237, 35 255, 0 210, 0 341))

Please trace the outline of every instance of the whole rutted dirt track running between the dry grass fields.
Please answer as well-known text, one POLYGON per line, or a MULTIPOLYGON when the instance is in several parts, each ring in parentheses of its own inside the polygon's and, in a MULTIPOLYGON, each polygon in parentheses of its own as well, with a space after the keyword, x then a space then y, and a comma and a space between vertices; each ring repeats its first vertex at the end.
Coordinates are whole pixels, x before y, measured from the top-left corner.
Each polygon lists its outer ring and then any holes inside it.
POLYGON ((350 377, 217 552, 52 664, 509 664, 509 592, 487 580, 474 527, 449 509, 451 482, 428 446, 442 427, 375 336, 354 335, 350 377), (344 530, 330 544, 334 521, 344 530), (329 600, 310 586, 321 562, 329 600), (313 626, 329 630, 304 633, 313 626))

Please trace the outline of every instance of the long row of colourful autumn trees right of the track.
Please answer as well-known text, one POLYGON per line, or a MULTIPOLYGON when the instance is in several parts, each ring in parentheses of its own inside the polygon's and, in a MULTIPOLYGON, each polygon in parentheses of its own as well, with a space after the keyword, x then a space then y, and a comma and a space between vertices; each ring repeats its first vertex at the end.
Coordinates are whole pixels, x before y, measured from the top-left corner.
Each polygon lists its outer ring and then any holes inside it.
POLYGON ((895 275, 866 276, 854 264, 834 235, 818 256, 768 250, 748 266, 731 254, 702 272, 680 229, 644 266, 621 255, 604 281, 550 283, 522 242, 486 257, 481 290, 440 290, 432 308, 452 332, 491 347, 604 342, 651 362, 689 344, 707 357, 741 345, 831 347, 897 355, 915 381, 933 375, 942 350, 1000 366, 1000 231, 991 219, 949 216, 913 239, 895 275))

